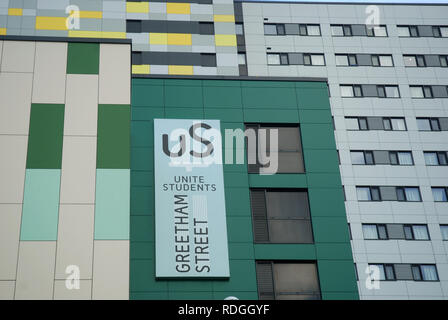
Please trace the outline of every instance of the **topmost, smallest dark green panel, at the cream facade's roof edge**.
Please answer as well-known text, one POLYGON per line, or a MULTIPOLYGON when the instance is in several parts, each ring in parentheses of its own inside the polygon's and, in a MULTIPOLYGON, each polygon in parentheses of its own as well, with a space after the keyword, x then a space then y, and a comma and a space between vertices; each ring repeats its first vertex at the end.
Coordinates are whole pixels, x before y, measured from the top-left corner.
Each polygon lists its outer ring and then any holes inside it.
POLYGON ((67 48, 68 74, 98 74, 100 66, 99 43, 69 42, 67 48))

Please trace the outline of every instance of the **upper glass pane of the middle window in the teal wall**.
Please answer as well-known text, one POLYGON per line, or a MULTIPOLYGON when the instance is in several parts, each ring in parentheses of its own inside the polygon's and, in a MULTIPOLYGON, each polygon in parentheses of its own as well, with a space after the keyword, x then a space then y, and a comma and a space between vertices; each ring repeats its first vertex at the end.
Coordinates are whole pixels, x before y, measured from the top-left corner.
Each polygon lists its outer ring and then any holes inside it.
POLYGON ((306 192, 266 192, 268 219, 309 218, 306 192))

